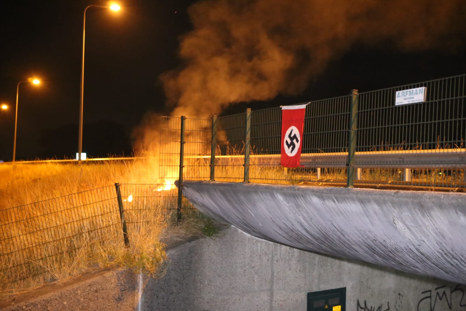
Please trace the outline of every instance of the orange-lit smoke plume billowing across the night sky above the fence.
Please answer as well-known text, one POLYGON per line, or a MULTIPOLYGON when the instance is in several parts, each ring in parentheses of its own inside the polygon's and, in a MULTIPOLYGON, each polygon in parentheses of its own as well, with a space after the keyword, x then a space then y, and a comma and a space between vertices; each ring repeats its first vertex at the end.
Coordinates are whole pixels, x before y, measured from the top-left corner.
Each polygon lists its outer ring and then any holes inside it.
POLYGON ((162 76, 172 116, 302 92, 354 44, 403 51, 462 44, 464 0, 206 0, 192 5, 184 67, 162 76))

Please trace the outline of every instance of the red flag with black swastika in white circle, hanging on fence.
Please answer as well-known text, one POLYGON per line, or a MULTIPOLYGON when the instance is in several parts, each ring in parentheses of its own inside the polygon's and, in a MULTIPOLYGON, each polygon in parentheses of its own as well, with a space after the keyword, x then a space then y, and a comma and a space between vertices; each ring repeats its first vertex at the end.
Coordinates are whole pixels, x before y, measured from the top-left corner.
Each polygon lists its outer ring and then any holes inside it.
MULTIPOLYGON (((309 104, 309 103, 308 103, 309 104)), ((281 165, 300 166, 306 106, 281 106, 281 165)))

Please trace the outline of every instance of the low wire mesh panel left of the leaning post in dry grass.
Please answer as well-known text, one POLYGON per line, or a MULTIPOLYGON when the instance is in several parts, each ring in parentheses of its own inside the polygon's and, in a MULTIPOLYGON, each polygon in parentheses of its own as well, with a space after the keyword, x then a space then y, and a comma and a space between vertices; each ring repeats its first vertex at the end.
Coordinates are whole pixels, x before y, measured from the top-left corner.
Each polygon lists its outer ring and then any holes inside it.
POLYGON ((78 252, 118 241, 113 187, 0 210, 2 279, 22 280, 59 270, 78 252))

